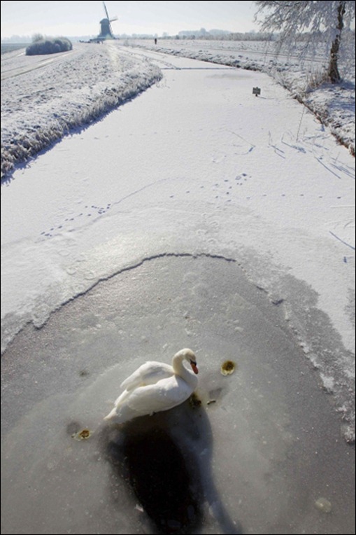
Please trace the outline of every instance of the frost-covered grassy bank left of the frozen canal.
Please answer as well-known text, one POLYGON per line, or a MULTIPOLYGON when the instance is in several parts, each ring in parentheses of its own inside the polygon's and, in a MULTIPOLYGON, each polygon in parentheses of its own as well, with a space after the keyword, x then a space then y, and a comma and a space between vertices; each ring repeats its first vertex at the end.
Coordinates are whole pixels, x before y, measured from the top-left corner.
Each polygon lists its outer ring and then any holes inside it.
POLYGON ((162 77, 113 41, 76 43, 68 53, 1 56, 1 176, 91 123, 162 77))

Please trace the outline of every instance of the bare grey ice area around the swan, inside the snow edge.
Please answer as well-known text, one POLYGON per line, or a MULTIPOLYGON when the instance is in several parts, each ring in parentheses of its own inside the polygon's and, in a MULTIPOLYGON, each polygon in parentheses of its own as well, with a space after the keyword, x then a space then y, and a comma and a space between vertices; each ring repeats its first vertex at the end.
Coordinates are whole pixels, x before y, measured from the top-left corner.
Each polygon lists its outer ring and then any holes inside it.
POLYGON ((338 416, 282 310, 236 263, 150 260, 41 331, 27 326, 3 359, 4 533, 157 533, 162 522, 180 533, 352 533, 338 416), (201 408, 121 430, 103 422, 123 377, 182 344, 197 352, 201 408), (224 377, 227 359, 237 368, 224 377), (87 440, 73 438, 83 429, 87 440), (180 484, 188 494, 176 496, 180 484), (315 506, 321 496, 332 515, 315 506))

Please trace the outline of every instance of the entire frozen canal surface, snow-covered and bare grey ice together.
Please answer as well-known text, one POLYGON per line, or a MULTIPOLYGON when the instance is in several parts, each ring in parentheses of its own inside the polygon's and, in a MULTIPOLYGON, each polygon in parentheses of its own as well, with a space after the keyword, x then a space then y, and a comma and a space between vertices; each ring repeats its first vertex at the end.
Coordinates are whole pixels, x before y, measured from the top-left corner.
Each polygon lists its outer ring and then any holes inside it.
POLYGON ((162 80, 1 187, 3 533, 155 533, 101 422, 192 347, 195 532, 351 534, 355 159, 262 72, 121 54, 162 80))

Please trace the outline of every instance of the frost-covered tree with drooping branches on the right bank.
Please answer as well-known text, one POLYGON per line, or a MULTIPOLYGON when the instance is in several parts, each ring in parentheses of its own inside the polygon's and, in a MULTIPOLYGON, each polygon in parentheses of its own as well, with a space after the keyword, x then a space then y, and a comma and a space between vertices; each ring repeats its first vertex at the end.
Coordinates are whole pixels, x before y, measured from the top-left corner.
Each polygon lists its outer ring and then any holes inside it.
POLYGON ((255 4, 258 6, 256 20, 266 12, 264 19, 259 21, 262 31, 281 32, 281 42, 295 43, 303 36, 306 49, 310 49, 322 38, 329 51, 327 76, 332 83, 341 81, 338 67, 341 34, 355 20, 355 0, 262 0, 255 4))

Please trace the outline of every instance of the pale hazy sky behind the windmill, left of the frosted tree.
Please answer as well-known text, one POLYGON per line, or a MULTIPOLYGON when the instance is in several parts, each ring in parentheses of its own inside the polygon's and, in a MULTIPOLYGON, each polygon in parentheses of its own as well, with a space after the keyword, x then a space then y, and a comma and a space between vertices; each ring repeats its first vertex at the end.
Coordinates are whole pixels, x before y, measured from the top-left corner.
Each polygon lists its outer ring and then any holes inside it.
MULTIPOLYGON (((253 1, 106 1, 114 34, 170 35, 201 27, 250 32, 253 1)), ((101 1, 2 1, 1 38, 36 33, 50 36, 97 35, 104 18, 101 1)))

